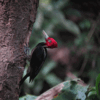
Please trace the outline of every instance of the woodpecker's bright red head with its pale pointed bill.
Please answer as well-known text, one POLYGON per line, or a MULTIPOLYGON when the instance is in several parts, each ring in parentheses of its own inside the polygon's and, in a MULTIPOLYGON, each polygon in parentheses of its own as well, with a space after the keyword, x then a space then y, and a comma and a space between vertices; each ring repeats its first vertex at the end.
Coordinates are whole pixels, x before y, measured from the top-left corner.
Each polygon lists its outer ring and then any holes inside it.
POLYGON ((48 48, 57 48, 57 42, 53 39, 53 38, 50 38, 45 31, 43 31, 43 34, 45 36, 45 40, 46 40, 46 46, 48 48))

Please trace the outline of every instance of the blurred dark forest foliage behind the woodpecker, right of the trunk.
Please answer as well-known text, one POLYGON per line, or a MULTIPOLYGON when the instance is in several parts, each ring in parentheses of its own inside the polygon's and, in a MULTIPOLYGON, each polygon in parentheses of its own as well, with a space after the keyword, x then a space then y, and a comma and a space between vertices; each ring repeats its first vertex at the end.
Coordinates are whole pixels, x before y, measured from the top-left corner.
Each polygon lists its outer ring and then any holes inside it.
MULTIPOLYGON (((40 0, 29 47, 45 41, 42 30, 58 42, 32 83, 24 82, 20 96, 40 95, 68 79, 81 78, 94 86, 100 73, 100 1, 40 0)), ((24 71, 27 72, 29 62, 24 71)))

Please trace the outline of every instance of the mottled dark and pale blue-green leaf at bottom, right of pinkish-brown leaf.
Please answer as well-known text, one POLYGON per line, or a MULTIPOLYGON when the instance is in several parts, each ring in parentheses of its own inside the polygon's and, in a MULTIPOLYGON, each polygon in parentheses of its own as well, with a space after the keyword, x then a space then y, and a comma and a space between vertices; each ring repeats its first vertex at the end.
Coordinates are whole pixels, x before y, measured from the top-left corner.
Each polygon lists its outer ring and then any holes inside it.
POLYGON ((76 81, 64 82, 64 87, 60 94, 53 100, 85 100, 88 86, 82 86, 76 81))

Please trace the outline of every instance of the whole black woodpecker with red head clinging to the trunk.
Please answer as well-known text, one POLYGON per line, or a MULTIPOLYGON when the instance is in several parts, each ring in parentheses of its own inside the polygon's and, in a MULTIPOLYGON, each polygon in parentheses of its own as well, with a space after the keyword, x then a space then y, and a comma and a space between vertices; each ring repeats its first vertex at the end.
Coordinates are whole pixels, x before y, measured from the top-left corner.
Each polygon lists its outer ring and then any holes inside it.
POLYGON ((32 51, 29 72, 22 78, 19 86, 23 84, 27 77, 30 77, 30 82, 32 82, 37 76, 47 57, 47 48, 57 48, 57 42, 53 38, 49 37, 45 31, 43 31, 43 35, 46 42, 37 44, 35 49, 32 51))

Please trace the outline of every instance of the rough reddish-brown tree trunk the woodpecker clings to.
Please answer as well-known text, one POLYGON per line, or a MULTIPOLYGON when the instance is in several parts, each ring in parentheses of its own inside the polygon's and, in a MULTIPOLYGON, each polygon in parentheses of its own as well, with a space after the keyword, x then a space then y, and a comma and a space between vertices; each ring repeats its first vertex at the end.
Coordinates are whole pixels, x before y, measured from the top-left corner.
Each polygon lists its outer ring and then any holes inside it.
POLYGON ((39 0, 0 0, 0 100, 18 100, 39 0))

